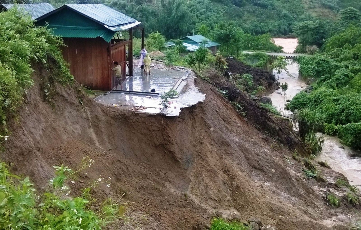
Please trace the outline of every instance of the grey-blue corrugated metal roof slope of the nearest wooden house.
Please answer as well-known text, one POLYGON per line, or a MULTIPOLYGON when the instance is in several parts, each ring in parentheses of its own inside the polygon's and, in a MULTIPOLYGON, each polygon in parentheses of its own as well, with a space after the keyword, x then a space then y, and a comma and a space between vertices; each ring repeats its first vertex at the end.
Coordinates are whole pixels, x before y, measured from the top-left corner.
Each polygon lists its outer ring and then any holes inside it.
POLYGON ((121 25, 137 22, 134 18, 122 14, 119 11, 103 4, 67 4, 66 6, 90 19, 93 19, 94 21, 99 22, 100 24, 103 24, 105 27, 113 31, 121 30, 118 28, 121 25))

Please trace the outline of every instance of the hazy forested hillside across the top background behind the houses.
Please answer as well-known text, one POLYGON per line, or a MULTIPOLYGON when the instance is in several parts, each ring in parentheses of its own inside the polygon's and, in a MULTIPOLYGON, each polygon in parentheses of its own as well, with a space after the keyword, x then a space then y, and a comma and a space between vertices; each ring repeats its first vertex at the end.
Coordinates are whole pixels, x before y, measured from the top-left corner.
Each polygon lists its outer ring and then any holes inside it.
POLYGON ((174 39, 197 33, 201 24, 211 30, 221 21, 235 21, 253 35, 286 36, 295 24, 318 18, 334 21, 341 9, 361 9, 357 0, 35 0, 55 6, 65 3, 103 3, 144 23, 147 32, 174 39), (176 28, 176 29, 175 29, 176 28))

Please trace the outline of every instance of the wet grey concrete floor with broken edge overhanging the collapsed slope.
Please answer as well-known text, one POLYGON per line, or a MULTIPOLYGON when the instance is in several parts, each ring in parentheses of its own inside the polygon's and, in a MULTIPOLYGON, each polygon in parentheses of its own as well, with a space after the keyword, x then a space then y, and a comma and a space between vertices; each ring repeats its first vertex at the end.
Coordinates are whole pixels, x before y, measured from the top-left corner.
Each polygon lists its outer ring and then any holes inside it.
POLYGON ((194 85, 195 77, 189 76, 186 71, 151 69, 151 76, 145 76, 139 70, 134 75, 123 82, 122 86, 118 86, 117 90, 123 91, 110 91, 96 98, 96 102, 119 109, 178 116, 182 108, 203 102, 205 99, 205 94, 201 94, 194 85), (155 89, 158 95, 150 94, 151 89, 155 89), (179 96, 171 100, 168 108, 164 108, 160 96, 170 89, 177 90, 179 96), (137 110, 139 107, 145 109, 137 110))

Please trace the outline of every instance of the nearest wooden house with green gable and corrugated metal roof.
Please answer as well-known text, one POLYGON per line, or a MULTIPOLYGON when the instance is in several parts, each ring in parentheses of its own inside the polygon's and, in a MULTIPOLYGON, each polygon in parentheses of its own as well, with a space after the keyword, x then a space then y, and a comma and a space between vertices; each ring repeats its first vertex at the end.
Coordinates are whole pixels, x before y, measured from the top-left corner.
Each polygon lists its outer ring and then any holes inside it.
MULTIPOLYGON (((129 75, 132 75, 133 28, 138 28, 140 23, 103 4, 63 5, 37 19, 39 26, 49 24, 55 35, 63 38, 66 45, 63 55, 70 63, 70 73, 80 84, 93 90, 111 90, 115 86, 112 60, 122 66, 125 79, 126 46, 129 75), (129 39, 115 39, 119 31, 129 32, 129 39)), ((139 29, 143 45, 144 30, 139 29)))

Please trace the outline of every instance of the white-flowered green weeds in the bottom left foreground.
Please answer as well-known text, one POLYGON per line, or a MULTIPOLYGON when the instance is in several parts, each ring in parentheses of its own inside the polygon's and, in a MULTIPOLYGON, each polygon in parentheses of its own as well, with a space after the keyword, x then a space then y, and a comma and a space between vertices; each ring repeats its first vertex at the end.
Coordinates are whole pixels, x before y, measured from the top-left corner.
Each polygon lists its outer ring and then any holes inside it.
POLYGON ((99 178, 82 195, 69 197, 71 190, 66 185, 69 179, 93 163, 86 157, 74 170, 54 166, 55 178, 49 181, 49 189, 43 194, 37 193, 29 177, 21 180, 9 172, 5 163, 0 163, 0 229, 100 230, 118 219, 128 219, 124 216, 127 203, 121 204, 121 199, 105 200, 98 211, 90 208, 95 201, 91 189, 99 184, 110 187, 109 179, 99 178))

